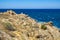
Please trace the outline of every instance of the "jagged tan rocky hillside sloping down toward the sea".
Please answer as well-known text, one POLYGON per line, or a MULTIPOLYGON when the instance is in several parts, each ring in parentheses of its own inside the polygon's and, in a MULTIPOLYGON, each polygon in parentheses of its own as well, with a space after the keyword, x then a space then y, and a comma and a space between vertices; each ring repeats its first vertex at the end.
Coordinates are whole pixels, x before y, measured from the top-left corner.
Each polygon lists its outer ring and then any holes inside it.
POLYGON ((60 40, 60 30, 10 10, 0 13, 0 40, 60 40))

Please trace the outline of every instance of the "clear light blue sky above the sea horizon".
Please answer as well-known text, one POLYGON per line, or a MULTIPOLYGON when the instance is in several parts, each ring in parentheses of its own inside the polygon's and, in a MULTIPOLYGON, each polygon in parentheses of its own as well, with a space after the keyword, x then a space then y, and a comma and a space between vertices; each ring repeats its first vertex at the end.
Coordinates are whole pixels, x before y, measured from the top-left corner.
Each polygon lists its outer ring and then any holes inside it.
POLYGON ((0 0, 0 9, 60 9, 60 0, 0 0))

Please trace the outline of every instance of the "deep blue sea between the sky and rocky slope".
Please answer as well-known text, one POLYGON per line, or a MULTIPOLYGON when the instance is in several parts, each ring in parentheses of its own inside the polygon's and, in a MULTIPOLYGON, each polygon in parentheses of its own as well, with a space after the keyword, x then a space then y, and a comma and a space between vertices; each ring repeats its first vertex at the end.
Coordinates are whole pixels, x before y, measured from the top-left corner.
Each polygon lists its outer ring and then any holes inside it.
POLYGON ((60 28, 60 9, 0 9, 0 12, 13 10, 17 14, 23 12, 38 22, 52 21, 54 26, 60 28))

